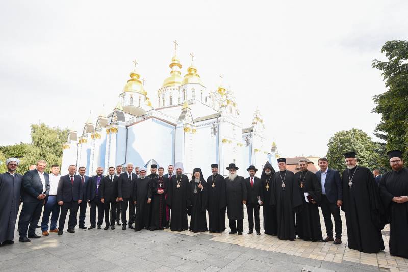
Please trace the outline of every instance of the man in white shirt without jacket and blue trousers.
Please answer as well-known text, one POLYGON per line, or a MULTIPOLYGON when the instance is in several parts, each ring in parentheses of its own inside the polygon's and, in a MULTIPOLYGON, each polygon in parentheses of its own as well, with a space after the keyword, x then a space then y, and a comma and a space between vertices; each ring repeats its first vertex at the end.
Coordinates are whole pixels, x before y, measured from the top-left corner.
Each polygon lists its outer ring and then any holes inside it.
POLYGON ((60 215, 60 205, 57 203, 57 188, 60 181, 60 166, 52 165, 51 174, 49 174, 49 195, 46 198, 44 211, 42 213, 41 231, 42 235, 48 236, 49 215, 51 215, 51 227, 49 232, 58 233, 57 221, 60 215))

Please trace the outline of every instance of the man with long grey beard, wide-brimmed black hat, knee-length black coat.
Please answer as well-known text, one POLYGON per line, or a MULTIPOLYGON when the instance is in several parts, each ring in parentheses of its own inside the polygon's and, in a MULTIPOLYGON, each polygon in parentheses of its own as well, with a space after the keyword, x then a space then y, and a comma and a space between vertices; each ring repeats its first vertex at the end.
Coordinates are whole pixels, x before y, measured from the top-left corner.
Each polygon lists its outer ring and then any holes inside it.
POLYGON ((230 234, 242 235, 244 231, 244 204, 247 191, 244 177, 237 175, 238 167, 234 163, 226 168, 230 175, 225 179, 226 211, 230 220, 230 234))

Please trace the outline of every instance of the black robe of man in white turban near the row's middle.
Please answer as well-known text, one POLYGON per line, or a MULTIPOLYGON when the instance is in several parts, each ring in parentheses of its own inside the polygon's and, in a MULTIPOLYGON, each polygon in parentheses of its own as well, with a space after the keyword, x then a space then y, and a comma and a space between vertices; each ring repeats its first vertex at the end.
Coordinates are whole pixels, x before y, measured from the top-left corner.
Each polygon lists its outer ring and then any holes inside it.
POLYGON ((150 178, 145 177, 138 178, 135 182, 133 194, 133 200, 136 201, 135 231, 149 227, 150 204, 147 203, 147 199, 151 198, 150 181, 150 178))

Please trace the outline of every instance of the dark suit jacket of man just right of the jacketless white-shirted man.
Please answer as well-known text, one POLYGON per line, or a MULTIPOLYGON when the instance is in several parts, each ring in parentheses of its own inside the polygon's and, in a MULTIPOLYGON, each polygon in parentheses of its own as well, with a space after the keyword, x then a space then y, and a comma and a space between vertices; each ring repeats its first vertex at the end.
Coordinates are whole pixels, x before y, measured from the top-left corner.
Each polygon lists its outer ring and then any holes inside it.
POLYGON ((60 178, 57 188, 57 201, 78 201, 83 200, 82 197, 82 182, 79 176, 74 176, 73 185, 69 174, 60 178))

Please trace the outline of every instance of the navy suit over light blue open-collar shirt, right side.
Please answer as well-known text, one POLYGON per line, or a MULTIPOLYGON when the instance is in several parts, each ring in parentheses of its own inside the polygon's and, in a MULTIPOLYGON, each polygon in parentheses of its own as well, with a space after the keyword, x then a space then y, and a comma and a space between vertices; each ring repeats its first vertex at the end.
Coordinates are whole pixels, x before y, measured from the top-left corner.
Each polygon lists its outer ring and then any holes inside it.
POLYGON ((320 208, 322 209, 327 236, 333 237, 333 223, 331 222, 331 215, 333 215, 336 238, 341 238, 343 226, 340 219, 340 208, 336 204, 337 200, 343 199, 343 187, 339 171, 327 168, 326 174, 324 174, 319 170, 316 172, 316 177, 322 185, 320 208), (326 175, 324 184, 322 184, 322 175, 326 175))

